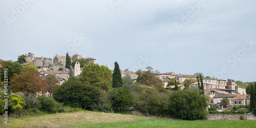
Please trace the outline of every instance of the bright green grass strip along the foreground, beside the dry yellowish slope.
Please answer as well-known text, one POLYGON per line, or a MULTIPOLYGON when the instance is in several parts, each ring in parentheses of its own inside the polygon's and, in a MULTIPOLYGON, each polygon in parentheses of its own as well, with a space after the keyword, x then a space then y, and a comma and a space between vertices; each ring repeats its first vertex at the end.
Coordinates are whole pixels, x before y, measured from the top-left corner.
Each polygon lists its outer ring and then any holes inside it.
POLYGON ((256 127, 251 120, 186 121, 154 118, 122 123, 88 124, 75 127, 256 127))

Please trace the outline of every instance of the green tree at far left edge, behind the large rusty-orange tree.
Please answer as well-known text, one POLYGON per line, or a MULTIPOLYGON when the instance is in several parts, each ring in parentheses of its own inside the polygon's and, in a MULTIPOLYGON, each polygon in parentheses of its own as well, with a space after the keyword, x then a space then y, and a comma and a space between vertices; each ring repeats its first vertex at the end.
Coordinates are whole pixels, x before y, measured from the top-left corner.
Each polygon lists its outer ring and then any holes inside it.
POLYGON ((8 82, 10 82, 15 73, 19 74, 23 70, 22 65, 20 65, 18 62, 7 60, 7 61, 3 61, 3 63, 4 63, 3 67, 0 68, 1 81, 5 81, 6 75, 4 71, 8 71, 7 73, 8 82))

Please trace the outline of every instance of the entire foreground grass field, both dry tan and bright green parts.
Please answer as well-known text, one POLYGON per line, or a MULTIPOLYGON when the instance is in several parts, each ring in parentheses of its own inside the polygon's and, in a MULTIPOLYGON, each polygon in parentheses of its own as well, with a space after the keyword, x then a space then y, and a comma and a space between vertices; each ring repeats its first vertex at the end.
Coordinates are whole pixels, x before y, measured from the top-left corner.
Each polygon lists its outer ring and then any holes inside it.
POLYGON ((186 121, 130 114, 80 111, 9 118, 0 127, 256 127, 256 121, 186 121))

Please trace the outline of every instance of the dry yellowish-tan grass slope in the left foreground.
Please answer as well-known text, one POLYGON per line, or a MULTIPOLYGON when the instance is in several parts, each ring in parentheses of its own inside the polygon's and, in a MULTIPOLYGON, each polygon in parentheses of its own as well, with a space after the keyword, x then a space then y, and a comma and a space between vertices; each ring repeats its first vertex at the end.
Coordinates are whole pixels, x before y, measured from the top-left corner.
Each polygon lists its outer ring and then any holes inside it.
POLYGON ((12 118, 9 119, 8 124, 1 122, 0 125, 1 127, 64 127, 84 124, 127 122, 142 119, 151 119, 151 117, 82 111, 76 113, 12 118))

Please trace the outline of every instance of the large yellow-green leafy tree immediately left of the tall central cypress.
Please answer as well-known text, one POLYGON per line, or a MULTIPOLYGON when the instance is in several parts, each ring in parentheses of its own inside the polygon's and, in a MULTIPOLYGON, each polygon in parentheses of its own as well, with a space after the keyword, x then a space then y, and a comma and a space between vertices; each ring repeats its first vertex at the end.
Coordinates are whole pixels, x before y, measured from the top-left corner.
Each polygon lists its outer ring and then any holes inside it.
POLYGON ((102 90, 111 89, 112 72, 105 66, 99 66, 97 63, 90 62, 83 67, 79 80, 83 83, 91 84, 102 90))

